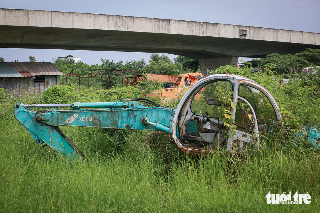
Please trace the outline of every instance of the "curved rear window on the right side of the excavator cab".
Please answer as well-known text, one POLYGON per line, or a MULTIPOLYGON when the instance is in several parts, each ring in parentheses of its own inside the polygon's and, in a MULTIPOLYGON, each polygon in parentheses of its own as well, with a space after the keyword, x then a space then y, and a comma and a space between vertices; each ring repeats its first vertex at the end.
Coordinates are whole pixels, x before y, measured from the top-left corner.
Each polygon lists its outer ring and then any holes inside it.
POLYGON ((240 85, 238 95, 247 99, 252 105, 259 126, 259 131, 267 129, 268 125, 277 119, 275 110, 265 94, 247 85, 240 85))

